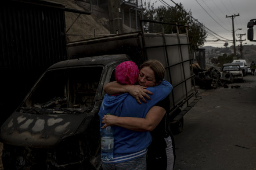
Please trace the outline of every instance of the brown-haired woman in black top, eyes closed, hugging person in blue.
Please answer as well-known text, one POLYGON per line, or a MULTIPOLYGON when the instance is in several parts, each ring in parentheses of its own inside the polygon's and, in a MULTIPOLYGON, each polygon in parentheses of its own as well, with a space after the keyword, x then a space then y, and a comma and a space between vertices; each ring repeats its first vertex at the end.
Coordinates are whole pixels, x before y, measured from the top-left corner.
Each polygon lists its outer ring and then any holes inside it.
MULTIPOLYGON (((148 102, 150 91, 147 87, 157 87, 165 76, 165 68, 157 60, 144 62, 140 67, 138 82, 136 86, 122 85, 118 82, 111 82, 105 85, 107 94, 119 94, 128 92, 141 104, 148 102)), ((160 94, 164 94, 161 91, 160 94)), ((152 94, 151 94, 152 95, 152 94)), ((151 100, 154 100, 151 96, 151 100)), ((152 142, 148 147, 147 170, 173 170, 175 163, 174 138, 169 128, 169 97, 159 101, 146 114, 145 118, 118 117, 115 115, 105 115, 102 123, 107 126, 120 126, 134 131, 149 131, 152 142)))

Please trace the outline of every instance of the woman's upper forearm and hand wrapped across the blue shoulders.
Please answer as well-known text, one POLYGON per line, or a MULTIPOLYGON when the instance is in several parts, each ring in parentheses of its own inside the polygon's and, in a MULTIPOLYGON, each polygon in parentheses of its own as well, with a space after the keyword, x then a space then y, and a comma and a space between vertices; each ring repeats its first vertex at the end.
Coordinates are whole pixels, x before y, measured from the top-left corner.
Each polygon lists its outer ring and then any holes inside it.
POLYGON ((144 103, 147 103, 145 98, 150 100, 150 97, 148 96, 148 94, 152 95, 151 91, 147 90, 146 88, 147 87, 143 87, 140 85, 130 85, 130 84, 123 85, 123 84, 117 83, 116 81, 113 81, 106 84, 103 90, 108 95, 129 93, 131 96, 133 96, 136 99, 136 101, 139 104, 141 104, 141 101, 143 101, 144 103))

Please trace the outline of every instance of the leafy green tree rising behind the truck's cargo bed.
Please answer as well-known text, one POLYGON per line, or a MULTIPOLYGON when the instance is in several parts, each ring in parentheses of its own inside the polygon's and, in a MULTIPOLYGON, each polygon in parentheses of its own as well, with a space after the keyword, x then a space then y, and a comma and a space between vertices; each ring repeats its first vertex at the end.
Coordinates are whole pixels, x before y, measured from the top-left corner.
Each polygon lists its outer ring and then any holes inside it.
MULTIPOLYGON (((160 6, 157 9, 150 5, 150 1, 144 2, 144 19, 162 21, 165 23, 187 25, 188 26, 188 38, 191 43, 191 49, 198 49, 206 42, 207 32, 205 27, 195 21, 192 17, 191 11, 184 10, 183 5, 180 3, 174 7, 160 6)), ((154 3, 153 3, 154 4, 154 3)), ((145 27, 144 27, 145 28, 145 27)), ((162 32, 162 26, 160 24, 148 24, 146 26, 147 32, 162 32)), ((176 33, 175 26, 166 25, 164 27, 166 33, 176 33)), ((185 28, 180 28, 180 33, 185 33, 185 28)))

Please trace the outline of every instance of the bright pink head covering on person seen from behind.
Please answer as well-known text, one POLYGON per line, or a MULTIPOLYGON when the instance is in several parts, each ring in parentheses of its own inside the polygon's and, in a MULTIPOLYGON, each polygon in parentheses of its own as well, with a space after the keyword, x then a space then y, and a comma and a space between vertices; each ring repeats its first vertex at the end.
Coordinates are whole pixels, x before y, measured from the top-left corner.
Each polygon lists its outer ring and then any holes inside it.
POLYGON ((139 68, 132 61, 122 62, 115 68, 115 80, 120 84, 134 84, 137 82, 139 68))

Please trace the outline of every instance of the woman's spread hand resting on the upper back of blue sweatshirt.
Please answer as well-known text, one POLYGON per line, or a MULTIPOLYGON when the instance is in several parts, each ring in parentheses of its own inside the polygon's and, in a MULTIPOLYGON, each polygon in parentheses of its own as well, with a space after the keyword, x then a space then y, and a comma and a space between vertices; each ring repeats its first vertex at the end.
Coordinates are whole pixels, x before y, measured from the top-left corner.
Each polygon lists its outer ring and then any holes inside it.
POLYGON ((140 85, 132 85, 128 88, 128 93, 133 96, 138 104, 141 104, 141 101, 147 103, 146 99, 150 100, 151 98, 148 94, 152 95, 153 93, 146 89, 147 87, 140 86, 140 85), (146 99, 145 99, 146 98, 146 99), (141 99, 141 101, 140 101, 141 99))

